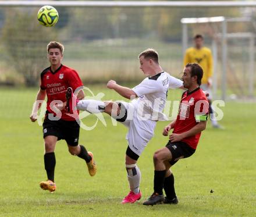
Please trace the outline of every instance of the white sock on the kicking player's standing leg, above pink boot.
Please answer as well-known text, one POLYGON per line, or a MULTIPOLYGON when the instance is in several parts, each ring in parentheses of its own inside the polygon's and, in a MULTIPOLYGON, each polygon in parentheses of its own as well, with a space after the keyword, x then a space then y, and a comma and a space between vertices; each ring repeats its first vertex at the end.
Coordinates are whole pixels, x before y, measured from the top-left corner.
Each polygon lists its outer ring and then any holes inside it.
POLYGON ((130 184, 130 190, 133 191, 133 193, 138 194, 140 192, 140 169, 138 169, 136 165, 135 168, 126 168, 126 170, 127 178, 130 184))

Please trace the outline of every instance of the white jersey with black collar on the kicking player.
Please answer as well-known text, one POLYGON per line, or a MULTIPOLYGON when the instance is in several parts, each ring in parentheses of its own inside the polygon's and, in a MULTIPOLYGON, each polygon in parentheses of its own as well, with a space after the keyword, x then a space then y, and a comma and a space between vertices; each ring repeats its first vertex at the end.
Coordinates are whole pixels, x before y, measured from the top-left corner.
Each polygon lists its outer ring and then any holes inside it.
POLYGON ((163 114, 168 89, 182 87, 183 82, 166 72, 147 77, 136 87, 132 88, 138 98, 131 104, 137 109, 137 114, 147 120, 168 120, 163 114))

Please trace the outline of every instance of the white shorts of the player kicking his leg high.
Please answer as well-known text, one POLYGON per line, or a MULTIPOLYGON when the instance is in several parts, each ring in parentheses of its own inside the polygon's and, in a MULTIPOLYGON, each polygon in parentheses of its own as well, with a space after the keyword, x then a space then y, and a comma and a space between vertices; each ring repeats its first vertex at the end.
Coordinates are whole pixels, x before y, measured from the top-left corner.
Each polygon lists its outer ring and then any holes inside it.
POLYGON ((120 103, 125 106, 127 111, 125 121, 120 122, 129 128, 126 134, 126 140, 131 151, 140 156, 148 142, 154 136, 157 122, 155 120, 141 120, 133 104, 130 102, 120 103))

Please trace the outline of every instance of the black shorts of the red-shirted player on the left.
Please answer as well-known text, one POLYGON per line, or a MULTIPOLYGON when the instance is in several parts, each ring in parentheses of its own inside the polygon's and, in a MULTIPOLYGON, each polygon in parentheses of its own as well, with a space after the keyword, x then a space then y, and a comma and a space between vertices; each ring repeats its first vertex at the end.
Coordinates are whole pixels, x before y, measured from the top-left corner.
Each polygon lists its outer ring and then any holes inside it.
POLYGON ((66 140, 68 145, 78 145, 80 126, 76 120, 49 120, 47 115, 44 123, 42 123, 42 128, 44 138, 47 136, 56 136, 58 140, 66 140))

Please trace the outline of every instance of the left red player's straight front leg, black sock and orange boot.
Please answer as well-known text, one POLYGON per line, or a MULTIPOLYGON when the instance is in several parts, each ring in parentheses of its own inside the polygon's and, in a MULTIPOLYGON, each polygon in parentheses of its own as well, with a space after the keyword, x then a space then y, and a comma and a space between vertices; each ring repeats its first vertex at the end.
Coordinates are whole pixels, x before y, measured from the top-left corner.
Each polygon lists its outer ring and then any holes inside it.
POLYGON ((43 190, 49 190, 51 192, 56 190, 56 184, 54 183, 54 170, 56 165, 55 159, 55 145, 58 140, 56 136, 46 136, 44 138, 44 168, 47 172, 47 181, 40 182, 40 187, 43 190))

